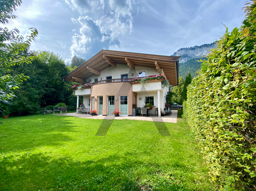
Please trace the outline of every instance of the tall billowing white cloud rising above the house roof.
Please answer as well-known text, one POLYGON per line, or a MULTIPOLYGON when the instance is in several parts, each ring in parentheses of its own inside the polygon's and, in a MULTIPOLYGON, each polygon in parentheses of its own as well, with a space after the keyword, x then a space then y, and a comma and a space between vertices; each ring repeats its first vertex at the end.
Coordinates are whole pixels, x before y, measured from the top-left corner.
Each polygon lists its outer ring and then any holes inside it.
MULTIPOLYGON (((132 0, 89 0, 83 1, 83 6, 90 7, 91 10, 80 10, 82 1, 65 0, 71 8, 76 8, 80 13, 98 10, 92 17, 79 16, 78 19, 71 18, 74 24, 80 25, 79 33, 76 32, 72 38, 70 51, 72 56, 90 58, 91 55, 98 53, 101 49, 108 49, 109 46, 119 47, 118 37, 123 37, 133 31, 133 17, 137 8, 132 6, 139 5, 132 0), (106 2, 107 1, 107 2, 106 2), (97 13, 97 14, 95 14, 97 13)), ((89 14, 89 13, 88 13, 89 14)))

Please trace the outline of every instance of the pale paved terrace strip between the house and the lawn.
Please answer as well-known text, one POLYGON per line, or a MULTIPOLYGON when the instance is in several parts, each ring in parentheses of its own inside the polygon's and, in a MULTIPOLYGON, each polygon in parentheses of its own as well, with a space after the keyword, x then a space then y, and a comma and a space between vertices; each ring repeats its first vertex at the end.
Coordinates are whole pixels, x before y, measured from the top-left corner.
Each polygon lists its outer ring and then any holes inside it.
POLYGON ((150 121, 150 122, 174 122, 177 123, 177 115, 178 111, 172 111, 172 115, 169 116, 100 116, 91 114, 77 114, 77 113, 67 113, 66 115, 80 117, 80 118, 87 118, 87 119, 130 119, 130 120, 140 120, 140 121, 150 121))

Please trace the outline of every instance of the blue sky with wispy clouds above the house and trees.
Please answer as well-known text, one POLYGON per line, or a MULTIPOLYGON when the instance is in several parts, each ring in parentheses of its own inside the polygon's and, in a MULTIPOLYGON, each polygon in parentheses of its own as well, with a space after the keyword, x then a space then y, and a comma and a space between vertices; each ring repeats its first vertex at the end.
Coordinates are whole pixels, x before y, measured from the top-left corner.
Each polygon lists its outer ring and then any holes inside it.
POLYGON ((4 27, 39 35, 31 50, 51 51, 66 63, 102 49, 171 55, 212 43, 244 20, 246 0, 23 0, 4 27), (225 26, 224 26, 225 25, 225 26))

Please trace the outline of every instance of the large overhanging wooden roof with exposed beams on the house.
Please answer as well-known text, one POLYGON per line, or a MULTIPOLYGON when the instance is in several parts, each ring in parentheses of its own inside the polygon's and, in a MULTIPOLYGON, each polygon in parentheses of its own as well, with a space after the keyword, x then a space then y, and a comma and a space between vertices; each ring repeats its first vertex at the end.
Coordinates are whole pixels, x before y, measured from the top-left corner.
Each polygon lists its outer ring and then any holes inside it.
POLYGON ((135 69, 135 66, 155 68, 159 73, 163 69, 170 85, 178 84, 180 56, 162 56, 145 53, 128 53, 112 50, 101 50, 88 61, 64 77, 66 81, 83 83, 91 76, 100 75, 100 72, 116 67, 116 64, 125 64, 135 69))

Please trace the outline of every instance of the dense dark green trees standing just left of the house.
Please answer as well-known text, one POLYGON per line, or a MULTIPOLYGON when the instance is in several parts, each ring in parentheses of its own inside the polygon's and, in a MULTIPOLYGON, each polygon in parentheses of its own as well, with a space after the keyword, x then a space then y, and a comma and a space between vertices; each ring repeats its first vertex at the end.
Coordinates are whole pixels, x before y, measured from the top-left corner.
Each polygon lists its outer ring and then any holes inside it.
POLYGON ((76 106, 76 98, 70 88, 72 82, 63 80, 68 73, 67 67, 58 54, 48 51, 37 53, 31 64, 13 66, 11 72, 13 76, 19 73, 30 76, 27 81, 18 85, 11 115, 34 115, 42 107, 59 102, 76 106))

